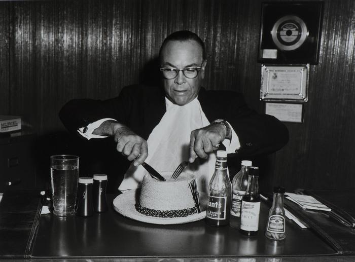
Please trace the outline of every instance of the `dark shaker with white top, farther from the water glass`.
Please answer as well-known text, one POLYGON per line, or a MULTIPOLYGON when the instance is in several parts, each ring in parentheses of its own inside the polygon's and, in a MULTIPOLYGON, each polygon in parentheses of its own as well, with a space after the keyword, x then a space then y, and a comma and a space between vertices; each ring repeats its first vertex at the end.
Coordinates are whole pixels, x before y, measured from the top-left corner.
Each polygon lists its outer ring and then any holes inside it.
POLYGON ((107 211, 106 186, 107 175, 94 174, 93 200, 95 212, 101 213, 107 211))

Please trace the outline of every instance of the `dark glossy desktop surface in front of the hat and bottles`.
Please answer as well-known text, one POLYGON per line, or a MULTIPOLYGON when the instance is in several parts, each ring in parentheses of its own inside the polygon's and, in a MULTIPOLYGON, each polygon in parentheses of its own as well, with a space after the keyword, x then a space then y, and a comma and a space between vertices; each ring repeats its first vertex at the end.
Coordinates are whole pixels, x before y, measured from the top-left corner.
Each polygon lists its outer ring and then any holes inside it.
MULTIPOLYGON (((109 196, 112 203, 114 196, 109 196)), ((269 207, 262 203, 258 236, 245 237, 230 227, 210 227, 204 220, 156 225, 123 217, 112 207, 92 217, 41 215, 32 258, 56 257, 215 257, 336 254, 308 229, 287 222, 287 238, 264 236, 269 207)))

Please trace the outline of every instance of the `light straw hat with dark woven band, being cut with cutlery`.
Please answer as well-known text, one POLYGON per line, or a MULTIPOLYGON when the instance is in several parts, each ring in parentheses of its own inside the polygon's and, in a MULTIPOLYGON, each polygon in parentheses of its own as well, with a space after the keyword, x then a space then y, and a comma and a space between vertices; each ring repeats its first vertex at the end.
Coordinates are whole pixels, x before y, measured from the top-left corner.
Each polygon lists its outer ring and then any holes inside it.
POLYGON ((181 224, 205 218, 207 194, 196 194, 195 176, 182 173, 173 180, 172 173, 173 171, 160 171, 166 181, 158 181, 149 174, 145 175, 141 188, 118 195, 113 201, 113 208, 125 217, 153 224, 181 224), (200 204, 199 211, 195 201, 200 204))

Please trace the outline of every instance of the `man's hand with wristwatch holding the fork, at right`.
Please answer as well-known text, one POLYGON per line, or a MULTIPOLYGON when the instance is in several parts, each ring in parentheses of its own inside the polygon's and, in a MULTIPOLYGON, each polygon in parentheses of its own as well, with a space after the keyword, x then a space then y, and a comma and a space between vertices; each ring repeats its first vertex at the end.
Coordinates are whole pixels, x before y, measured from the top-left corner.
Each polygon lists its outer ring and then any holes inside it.
POLYGON ((207 158, 207 154, 216 151, 220 143, 225 139, 227 129, 223 125, 209 125, 191 132, 190 158, 193 163, 196 156, 207 158))

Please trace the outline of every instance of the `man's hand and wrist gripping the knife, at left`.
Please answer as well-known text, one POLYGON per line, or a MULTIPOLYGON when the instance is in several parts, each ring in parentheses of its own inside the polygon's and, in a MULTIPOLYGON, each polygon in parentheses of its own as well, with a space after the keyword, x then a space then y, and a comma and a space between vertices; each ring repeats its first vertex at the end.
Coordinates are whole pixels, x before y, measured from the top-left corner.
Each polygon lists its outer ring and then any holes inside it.
POLYGON ((147 141, 116 121, 103 122, 94 130, 93 134, 113 136, 117 143, 117 151, 127 157, 129 161, 135 160, 134 166, 139 166, 148 157, 147 141))

